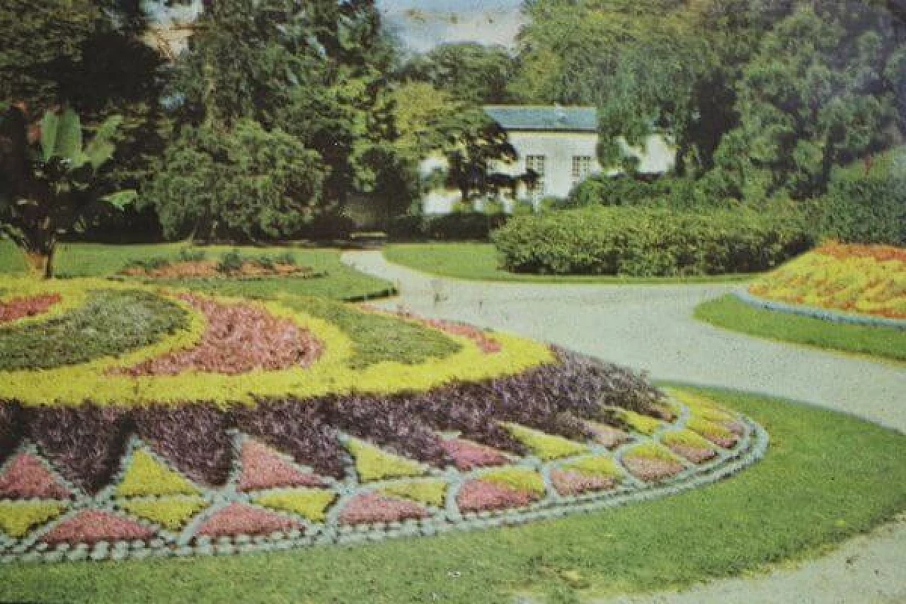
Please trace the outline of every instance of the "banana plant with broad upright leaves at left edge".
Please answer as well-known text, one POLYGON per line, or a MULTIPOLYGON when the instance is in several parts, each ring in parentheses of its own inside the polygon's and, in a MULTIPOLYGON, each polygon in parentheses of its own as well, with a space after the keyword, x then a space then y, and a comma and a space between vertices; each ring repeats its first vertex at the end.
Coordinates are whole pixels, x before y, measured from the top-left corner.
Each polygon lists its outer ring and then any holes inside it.
POLYGON ((44 113, 40 129, 30 129, 19 107, 0 119, 0 227, 45 278, 53 277, 57 238, 80 228, 85 209, 97 200, 121 208, 134 199, 134 191, 102 196, 99 188, 120 122, 109 117, 84 144, 72 109, 44 113))

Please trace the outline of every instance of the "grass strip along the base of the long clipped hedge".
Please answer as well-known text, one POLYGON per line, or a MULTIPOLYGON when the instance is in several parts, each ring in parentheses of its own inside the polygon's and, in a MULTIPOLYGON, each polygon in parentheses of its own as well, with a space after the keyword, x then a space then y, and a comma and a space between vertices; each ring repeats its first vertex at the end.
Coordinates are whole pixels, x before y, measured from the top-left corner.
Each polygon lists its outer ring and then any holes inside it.
POLYGON ((671 284, 733 283, 747 281, 752 275, 717 277, 612 277, 606 275, 521 275, 498 265, 496 249, 490 243, 400 243, 384 248, 384 257, 406 267, 439 275, 476 281, 518 283, 588 284, 671 284))

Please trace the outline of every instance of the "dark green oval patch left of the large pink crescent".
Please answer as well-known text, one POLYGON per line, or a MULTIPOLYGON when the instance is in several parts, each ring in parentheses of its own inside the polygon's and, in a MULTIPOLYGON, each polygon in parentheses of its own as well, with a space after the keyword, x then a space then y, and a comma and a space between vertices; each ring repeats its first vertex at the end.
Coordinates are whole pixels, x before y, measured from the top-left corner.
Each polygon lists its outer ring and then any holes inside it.
POLYGON ((98 291, 43 322, 0 327, 0 371, 51 369, 116 356, 188 326, 186 312, 145 291, 98 291))

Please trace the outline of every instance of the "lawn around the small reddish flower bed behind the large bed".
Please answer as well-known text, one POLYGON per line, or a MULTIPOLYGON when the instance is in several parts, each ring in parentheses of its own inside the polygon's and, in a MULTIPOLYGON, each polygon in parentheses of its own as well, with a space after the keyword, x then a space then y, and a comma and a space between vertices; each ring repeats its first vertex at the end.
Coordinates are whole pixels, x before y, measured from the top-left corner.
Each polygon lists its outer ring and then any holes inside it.
MULTIPOLYGON (((59 277, 109 277, 131 263, 148 258, 179 259, 179 251, 186 243, 149 245, 105 245, 98 243, 63 243, 57 249, 56 274, 59 277)), ((170 285, 192 287, 209 293, 226 296, 272 297, 279 293, 303 296, 321 296, 334 299, 381 297, 392 285, 383 279, 373 278, 353 270, 340 261, 336 249, 302 248, 251 248, 210 246, 203 249, 207 258, 217 259, 224 252, 238 249, 243 256, 258 258, 263 255, 292 254, 296 264, 311 267, 315 272, 326 272, 323 278, 265 278, 257 281, 182 279, 167 281, 170 285)), ((26 270, 22 254, 7 240, 0 239, 0 274, 21 274, 26 270)))

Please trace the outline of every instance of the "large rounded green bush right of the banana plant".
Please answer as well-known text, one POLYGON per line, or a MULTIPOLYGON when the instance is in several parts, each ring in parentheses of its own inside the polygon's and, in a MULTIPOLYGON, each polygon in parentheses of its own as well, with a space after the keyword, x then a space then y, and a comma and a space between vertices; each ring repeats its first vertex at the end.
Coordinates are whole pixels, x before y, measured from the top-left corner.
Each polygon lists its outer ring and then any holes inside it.
POLYGON ((183 129, 142 191, 169 238, 281 237, 320 211, 320 157, 280 129, 239 121, 183 129))

